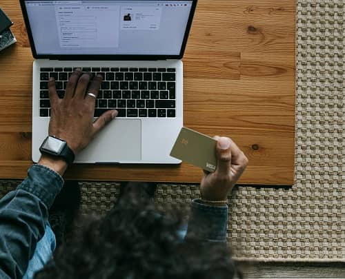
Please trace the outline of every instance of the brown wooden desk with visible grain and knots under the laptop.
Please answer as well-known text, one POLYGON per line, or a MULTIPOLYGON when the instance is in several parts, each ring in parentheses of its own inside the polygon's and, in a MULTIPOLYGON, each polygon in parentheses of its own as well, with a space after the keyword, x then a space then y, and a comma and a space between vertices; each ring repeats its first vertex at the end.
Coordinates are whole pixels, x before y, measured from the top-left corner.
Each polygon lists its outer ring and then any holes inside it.
MULTIPOLYGON (((1 1, 18 42, 0 52, 0 178, 31 165, 32 54, 19 1, 1 1)), ((233 138, 249 158, 239 183, 292 185, 295 1, 199 0, 184 56, 184 123, 233 138)), ((66 178, 199 182, 171 165, 75 165, 66 178)))

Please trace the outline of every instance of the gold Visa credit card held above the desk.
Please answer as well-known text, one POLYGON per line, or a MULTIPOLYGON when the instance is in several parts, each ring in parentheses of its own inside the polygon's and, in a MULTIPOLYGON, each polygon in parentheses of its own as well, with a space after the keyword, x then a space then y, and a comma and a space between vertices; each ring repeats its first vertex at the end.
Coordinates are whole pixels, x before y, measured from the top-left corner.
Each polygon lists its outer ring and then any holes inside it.
POLYGON ((170 156, 186 163, 201 167, 208 172, 215 172, 217 141, 210 136, 182 127, 170 156))

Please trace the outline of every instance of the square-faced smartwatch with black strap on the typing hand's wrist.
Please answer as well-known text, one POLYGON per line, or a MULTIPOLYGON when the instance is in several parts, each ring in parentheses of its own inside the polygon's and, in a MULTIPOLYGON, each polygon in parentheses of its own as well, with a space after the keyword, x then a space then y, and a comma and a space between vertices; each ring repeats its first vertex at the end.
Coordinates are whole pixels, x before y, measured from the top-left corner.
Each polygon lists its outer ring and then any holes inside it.
POLYGON ((72 152, 72 149, 68 147, 66 141, 63 141, 60 138, 55 138, 55 136, 47 136, 41 147, 39 147, 39 151, 42 154, 49 154, 63 158, 68 165, 75 161, 75 154, 72 152))

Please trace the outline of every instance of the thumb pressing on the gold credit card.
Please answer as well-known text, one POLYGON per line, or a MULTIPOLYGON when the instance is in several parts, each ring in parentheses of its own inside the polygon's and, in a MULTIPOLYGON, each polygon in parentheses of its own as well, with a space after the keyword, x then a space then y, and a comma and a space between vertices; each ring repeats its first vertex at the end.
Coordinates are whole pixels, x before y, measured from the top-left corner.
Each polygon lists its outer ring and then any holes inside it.
POLYGON ((231 167, 230 138, 217 137, 217 171, 219 174, 228 174, 231 167))

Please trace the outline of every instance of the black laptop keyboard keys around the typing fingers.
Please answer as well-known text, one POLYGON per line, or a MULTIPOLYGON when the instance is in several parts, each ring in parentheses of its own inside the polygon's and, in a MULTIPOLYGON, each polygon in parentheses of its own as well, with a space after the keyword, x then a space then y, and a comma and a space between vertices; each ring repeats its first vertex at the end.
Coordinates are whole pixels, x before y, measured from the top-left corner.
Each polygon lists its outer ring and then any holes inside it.
MULTIPOLYGON (((57 94, 63 98, 67 81, 76 68, 40 68, 39 116, 50 116, 48 81, 54 77, 57 94)), ((95 117, 117 110, 117 117, 176 116, 175 68, 97 68, 83 72, 101 74, 103 81, 96 100, 95 117)))

